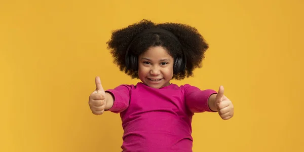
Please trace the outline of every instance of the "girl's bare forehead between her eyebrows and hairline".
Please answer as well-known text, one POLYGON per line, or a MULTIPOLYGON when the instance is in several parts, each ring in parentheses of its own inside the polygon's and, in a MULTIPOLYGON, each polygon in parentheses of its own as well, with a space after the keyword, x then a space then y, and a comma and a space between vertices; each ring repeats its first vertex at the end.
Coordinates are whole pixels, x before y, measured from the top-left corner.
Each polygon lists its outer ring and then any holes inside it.
POLYGON ((163 47, 150 47, 147 51, 143 52, 139 58, 150 59, 172 59, 172 56, 168 54, 168 51, 163 47))

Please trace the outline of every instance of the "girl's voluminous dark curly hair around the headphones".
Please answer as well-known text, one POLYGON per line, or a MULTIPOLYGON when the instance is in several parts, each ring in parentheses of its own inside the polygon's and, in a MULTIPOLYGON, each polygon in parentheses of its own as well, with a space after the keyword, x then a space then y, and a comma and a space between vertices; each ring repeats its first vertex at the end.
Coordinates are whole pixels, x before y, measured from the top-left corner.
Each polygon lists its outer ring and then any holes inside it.
POLYGON ((121 71, 130 75, 132 79, 138 79, 138 73, 134 69, 126 68, 126 49, 133 37, 138 33, 150 28, 162 28, 172 32, 179 40, 179 44, 166 34, 150 33, 139 37, 132 43, 130 51, 139 56, 141 53, 153 46, 164 47, 173 58, 182 56, 184 51, 186 56, 186 68, 184 71, 173 75, 173 79, 183 80, 185 77, 193 77, 193 70, 202 67, 204 54, 208 49, 208 44, 198 30, 192 26, 181 23, 161 23, 156 24, 150 20, 141 20, 128 27, 117 29, 112 32, 111 39, 106 43, 112 54, 113 63, 120 67, 121 71))

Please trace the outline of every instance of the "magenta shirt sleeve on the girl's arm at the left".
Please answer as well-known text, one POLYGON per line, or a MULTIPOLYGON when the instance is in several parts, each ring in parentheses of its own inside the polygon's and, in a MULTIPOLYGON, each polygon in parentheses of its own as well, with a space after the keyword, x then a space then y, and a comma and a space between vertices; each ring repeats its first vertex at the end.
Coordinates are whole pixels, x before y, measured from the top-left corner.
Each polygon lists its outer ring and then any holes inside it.
POLYGON ((108 89, 105 92, 113 97, 113 106, 108 111, 119 113, 129 107, 131 85, 120 85, 114 89, 108 89))

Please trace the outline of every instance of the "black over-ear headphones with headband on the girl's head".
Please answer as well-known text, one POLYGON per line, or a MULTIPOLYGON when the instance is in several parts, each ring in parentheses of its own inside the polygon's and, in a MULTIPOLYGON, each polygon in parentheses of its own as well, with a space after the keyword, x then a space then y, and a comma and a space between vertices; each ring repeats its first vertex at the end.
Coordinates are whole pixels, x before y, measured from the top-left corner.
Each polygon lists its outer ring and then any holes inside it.
MULTIPOLYGON (((137 61, 137 56, 135 56, 133 53, 129 53, 129 49, 132 45, 132 43, 140 36, 147 34, 147 33, 163 33, 163 34, 167 34, 169 36, 171 36, 173 39, 175 39, 179 44, 179 40, 177 39, 177 37, 170 31, 162 29, 162 28, 151 28, 151 29, 146 29, 142 32, 140 32, 139 34, 137 34, 136 36, 134 36, 134 38, 132 39, 131 43, 129 44, 127 50, 126 50, 126 66, 127 69, 133 69, 135 71, 138 70, 138 61, 137 61)), ((181 44, 180 44, 181 47, 181 44)), ((173 73, 177 74, 179 72, 182 72, 186 69, 186 55, 185 52, 182 50, 183 52, 183 57, 176 57, 174 59, 174 66, 173 66, 173 73)))

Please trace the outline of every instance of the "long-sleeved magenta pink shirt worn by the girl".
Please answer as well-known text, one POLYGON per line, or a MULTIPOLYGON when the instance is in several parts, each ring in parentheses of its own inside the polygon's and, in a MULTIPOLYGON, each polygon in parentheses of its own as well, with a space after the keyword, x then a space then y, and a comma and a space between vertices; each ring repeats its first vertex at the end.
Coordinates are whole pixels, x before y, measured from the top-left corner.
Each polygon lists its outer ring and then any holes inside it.
POLYGON ((194 112, 211 111, 208 98, 214 90, 188 84, 161 89, 142 83, 109 89, 114 97, 109 111, 120 113, 124 129, 123 151, 192 151, 194 112))

